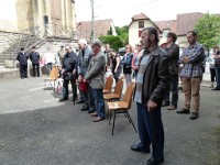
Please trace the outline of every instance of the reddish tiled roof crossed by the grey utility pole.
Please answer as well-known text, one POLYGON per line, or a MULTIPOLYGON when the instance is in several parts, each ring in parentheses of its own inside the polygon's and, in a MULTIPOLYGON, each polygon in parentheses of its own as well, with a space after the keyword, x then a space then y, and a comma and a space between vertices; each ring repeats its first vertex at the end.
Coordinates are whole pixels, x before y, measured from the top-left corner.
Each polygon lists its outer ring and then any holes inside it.
MULTIPOLYGON (((108 31, 112 26, 112 20, 96 20, 95 21, 95 37, 98 38, 100 35, 107 35, 108 31)), ((77 23, 77 36, 78 38, 90 40, 91 34, 91 21, 84 21, 77 23)))

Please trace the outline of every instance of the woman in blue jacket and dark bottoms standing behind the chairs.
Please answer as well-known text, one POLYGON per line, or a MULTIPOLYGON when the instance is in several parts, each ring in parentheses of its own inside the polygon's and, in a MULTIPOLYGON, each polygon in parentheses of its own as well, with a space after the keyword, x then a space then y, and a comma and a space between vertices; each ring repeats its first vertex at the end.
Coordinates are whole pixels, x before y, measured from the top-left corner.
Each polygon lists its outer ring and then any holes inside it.
POLYGON ((129 85, 131 82, 131 73, 132 73, 132 68, 131 68, 131 62, 133 58, 133 53, 132 53, 132 46, 130 44, 128 44, 125 46, 125 54, 121 61, 121 64, 123 65, 123 74, 125 77, 125 81, 127 85, 129 85))

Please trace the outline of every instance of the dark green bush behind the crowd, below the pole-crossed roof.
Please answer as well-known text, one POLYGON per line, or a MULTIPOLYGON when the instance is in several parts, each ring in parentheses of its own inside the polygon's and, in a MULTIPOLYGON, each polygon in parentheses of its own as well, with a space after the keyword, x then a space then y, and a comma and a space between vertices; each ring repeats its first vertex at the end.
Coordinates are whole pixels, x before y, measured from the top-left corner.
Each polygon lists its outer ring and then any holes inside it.
POLYGON ((123 46, 123 41, 122 41, 121 36, 101 35, 101 36, 99 36, 99 40, 103 44, 110 44, 111 48, 113 48, 114 51, 119 51, 119 48, 123 46))

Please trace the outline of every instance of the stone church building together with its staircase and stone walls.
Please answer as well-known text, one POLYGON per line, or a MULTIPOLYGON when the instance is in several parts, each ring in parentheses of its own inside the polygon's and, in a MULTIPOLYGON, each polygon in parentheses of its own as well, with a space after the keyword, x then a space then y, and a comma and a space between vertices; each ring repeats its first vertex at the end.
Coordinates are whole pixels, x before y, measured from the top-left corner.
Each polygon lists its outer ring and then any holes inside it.
POLYGON ((0 65, 46 46, 56 52, 76 38, 75 0, 0 0, 0 65))

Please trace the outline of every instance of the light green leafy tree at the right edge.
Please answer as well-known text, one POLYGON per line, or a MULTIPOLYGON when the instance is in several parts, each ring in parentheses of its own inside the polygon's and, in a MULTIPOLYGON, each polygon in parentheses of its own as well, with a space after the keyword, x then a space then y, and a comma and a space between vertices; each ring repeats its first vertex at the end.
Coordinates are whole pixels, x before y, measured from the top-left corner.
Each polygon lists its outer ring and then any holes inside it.
POLYGON ((198 41, 209 50, 220 44, 220 16, 206 13, 195 25, 198 41))

